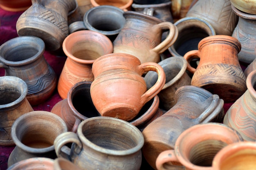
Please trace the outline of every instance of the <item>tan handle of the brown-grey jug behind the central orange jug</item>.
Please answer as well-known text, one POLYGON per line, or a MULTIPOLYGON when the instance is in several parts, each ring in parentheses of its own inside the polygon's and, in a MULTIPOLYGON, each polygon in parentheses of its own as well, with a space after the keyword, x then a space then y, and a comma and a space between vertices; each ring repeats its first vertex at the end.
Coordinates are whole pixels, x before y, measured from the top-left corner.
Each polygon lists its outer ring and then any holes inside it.
POLYGON ((178 28, 171 22, 161 22, 153 27, 160 27, 162 29, 170 30, 164 41, 162 41, 160 44, 158 44, 155 48, 152 49, 155 53, 160 54, 175 43, 178 37, 178 28))

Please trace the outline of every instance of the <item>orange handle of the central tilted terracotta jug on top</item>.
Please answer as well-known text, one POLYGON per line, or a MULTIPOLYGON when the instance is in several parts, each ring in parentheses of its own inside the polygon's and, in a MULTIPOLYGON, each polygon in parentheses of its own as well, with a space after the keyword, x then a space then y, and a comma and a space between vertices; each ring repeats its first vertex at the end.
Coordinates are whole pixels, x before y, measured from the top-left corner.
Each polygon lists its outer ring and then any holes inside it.
POLYGON ((154 62, 142 63, 141 65, 139 65, 139 68, 142 71, 141 75, 144 72, 148 72, 148 71, 157 72, 157 75, 158 75, 157 82, 141 96, 141 103, 142 105, 145 105, 146 102, 151 100, 162 90, 162 88, 164 87, 166 78, 165 78, 164 69, 157 63, 154 63, 154 62))

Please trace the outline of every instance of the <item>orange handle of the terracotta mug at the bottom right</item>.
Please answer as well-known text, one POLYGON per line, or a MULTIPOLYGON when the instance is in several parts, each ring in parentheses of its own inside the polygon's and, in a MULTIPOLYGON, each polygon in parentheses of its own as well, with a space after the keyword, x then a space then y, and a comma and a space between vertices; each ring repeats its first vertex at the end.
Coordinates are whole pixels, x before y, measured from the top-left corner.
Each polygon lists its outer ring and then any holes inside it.
MULTIPOLYGON (((177 157, 175 155, 174 150, 165 150, 158 155, 158 157, 155 161, 157 170, 167 170, 166 168, 164 168, 164 163, 167 163, 167 162, 180 163, 180 161, 177 159, 177 157)), ((184 166, 173 165, 173 170, 184 170, 184 166)))

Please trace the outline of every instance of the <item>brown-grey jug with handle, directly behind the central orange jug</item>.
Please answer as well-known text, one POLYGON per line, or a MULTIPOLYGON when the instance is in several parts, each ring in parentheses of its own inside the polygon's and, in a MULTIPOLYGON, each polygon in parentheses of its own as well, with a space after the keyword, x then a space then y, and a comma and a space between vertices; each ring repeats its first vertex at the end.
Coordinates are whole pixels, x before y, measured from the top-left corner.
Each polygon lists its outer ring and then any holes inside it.
POLYGON ((163 53, 177 39, 177 27, 156 17, 135 11, 124 12, 126 23, 113 42, 113 53, 136 56, 141 63, 160 61, 163 53), (168 30, 162 41, 163 30, 168 30))

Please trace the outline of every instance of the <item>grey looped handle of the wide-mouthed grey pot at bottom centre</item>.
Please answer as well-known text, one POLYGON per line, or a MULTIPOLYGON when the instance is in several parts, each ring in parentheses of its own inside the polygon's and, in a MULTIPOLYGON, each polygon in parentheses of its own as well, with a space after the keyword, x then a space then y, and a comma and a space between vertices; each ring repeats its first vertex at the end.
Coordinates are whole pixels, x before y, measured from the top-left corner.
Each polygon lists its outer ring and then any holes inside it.
POLYGON ((71 157, 70 155, 68 155, 68 153, 70 153, 70 148, 67 148, 66 146, 67 152, 63 152, 63 150, 61 150, 61 148, 63 148, 63 146, 68 143, 76 144, 76 147, 74 149, 74 152, 76 154, 79 154, 81 152, 83 144, 74 132, 64 132, 56 137, 56 139, 54 140, 54 148, 57 157, 63 157, 71 161, 71 157))

